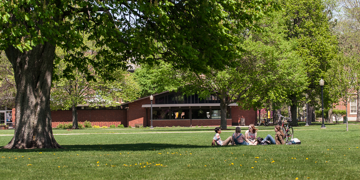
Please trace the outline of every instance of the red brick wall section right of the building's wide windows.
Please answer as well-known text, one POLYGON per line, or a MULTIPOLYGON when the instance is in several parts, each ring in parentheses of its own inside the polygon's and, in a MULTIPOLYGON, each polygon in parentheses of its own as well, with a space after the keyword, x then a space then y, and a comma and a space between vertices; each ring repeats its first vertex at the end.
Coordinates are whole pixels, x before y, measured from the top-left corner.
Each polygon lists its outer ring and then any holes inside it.
POLYGON ((242 116, 245 118, 245 126, 248 126, 249 124, 253 124, 255 122, 256 111, 254 111, 252 108, 250 110, 243 110, 240 109, 239 106, 231 107, 231 119, 233 125, 238 126, 242 116))

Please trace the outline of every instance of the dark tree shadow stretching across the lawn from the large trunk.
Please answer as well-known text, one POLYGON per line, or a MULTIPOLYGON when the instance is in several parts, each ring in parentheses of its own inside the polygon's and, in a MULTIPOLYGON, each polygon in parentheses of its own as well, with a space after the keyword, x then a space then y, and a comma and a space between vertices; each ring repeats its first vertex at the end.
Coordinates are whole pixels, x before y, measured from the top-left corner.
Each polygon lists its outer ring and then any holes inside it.
POLYGON ((137 143, 137 144, 91 144, 91 145, 62 145, 66 149, 0 149, 0 153, 16 152, 68 152, 68 151, 154 151, 171 148, 228 148, 228 146, 211 146, 211 145, 191 145, 191 144, 157 144, 157 143, 137 143))

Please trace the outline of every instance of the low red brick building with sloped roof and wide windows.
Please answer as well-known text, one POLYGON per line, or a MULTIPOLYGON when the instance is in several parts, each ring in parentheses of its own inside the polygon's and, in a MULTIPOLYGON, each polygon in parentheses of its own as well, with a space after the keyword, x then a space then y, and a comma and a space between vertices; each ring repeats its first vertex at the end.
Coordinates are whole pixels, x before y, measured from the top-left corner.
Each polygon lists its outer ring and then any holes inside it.
MULTIPOLYGON (((184 96, 181 93, 165 91, 153 96, 154 127, 220 125, 220 100, 214 95, 202 99, 197 94, 184 96)), ((79 123, 90 121, 93 126, 100 127, 118 124, 125 127, 150 126, 150 106, 149 96, 116 107, 79 105, 77 117, 79 123)), ((245 125, 249 125, 256 121, 256 115, 253 109, 243 110, 237 104, 230 104, 227 109, 228 126, 239 125, 241 117, 245 118, 245 125)), ((72 111, 51 111, 51 119, 52 127, 56 127, 59 123, 72 122, 72 111)))

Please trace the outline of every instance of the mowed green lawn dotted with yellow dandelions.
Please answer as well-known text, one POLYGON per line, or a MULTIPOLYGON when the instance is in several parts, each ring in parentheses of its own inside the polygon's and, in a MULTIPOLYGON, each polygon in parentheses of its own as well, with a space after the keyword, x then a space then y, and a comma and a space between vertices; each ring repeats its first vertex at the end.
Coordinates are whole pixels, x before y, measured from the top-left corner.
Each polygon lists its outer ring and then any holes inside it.
POLYGON ((359 179, 360 125, 310 127, 294 131, 301 145, 211 147, 215 132, 54 135, 66 149, 0 149, 0 179, 359 179))

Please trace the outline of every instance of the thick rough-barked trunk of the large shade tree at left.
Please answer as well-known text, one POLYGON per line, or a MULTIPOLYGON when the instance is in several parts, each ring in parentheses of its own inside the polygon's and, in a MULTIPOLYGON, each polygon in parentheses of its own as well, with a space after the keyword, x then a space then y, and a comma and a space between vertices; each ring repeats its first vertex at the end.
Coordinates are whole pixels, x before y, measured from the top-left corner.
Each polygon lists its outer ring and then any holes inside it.
POLYGON ((13 65, 17 94, 14 137, 3 148, 62 148, 51 129, 50 88, 55 46, 45 42, 21 53, 10 45, 5 53, 13 65))

